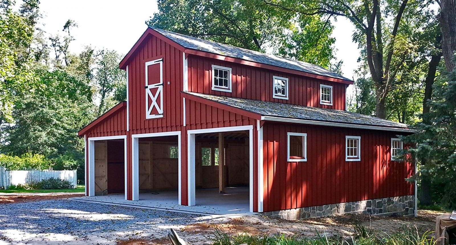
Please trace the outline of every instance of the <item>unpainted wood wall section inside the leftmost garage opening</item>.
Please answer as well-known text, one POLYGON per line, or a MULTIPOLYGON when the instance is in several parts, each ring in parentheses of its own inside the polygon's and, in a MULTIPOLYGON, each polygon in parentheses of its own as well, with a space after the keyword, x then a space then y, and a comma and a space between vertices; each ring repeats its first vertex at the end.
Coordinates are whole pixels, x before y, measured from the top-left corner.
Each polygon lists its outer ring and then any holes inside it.
POLYGON ((108 148, 106 141, 95 141, 95 195, 101 195, 108 189, 108 148))

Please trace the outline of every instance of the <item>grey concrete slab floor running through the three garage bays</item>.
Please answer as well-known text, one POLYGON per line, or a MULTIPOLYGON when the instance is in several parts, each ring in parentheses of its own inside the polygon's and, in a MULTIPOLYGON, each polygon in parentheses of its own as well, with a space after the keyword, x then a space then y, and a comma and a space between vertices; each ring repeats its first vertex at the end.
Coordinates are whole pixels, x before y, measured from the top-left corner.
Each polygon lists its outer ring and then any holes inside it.
POLYGON ((166 191, 158 194, 140 193, 140 200, 125 200, 124 194, 110 194, 106 196, 71 198, 79 201, 89 201, 122 206, 160 209, 192 214, 213 214, 223 217, 241 217, 254 214, 249 212, 249 188, 230 187, 224 194, 218 193, 218 188, 197 189, 195 206, 178 204, 177 191, 166 191))

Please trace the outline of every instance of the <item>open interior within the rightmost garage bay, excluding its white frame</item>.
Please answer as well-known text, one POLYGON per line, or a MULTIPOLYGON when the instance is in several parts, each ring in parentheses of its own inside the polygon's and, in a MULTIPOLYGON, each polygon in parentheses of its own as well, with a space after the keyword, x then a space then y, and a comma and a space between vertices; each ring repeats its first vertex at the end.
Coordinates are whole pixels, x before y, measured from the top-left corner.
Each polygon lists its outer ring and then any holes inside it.
POLYGON ((196 205, 248 210, 249 132, 196 135, 195 185, 196 205))

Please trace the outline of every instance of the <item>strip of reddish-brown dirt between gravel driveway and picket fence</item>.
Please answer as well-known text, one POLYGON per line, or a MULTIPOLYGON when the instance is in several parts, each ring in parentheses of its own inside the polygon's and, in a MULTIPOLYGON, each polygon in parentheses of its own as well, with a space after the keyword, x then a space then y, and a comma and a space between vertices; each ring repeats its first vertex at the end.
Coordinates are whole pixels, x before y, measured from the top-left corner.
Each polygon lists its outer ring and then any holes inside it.
POLYGON ((1 193, 0 204, 82 197, 80 193, 1 193))

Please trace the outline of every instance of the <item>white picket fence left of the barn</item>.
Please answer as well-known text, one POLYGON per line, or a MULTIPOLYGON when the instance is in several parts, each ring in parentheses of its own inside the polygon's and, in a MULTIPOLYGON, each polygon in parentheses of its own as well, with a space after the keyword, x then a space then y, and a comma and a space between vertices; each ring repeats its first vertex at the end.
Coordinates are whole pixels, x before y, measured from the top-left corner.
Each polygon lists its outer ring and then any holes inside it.
POLYGON ((9 188, 10 185, 30 184, 43 179, 64 179, 73 183, 76 188, 76 170, 6 170, 0 167, 0 188, 9 188))

